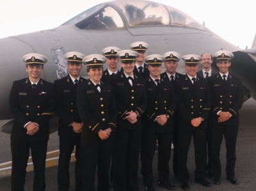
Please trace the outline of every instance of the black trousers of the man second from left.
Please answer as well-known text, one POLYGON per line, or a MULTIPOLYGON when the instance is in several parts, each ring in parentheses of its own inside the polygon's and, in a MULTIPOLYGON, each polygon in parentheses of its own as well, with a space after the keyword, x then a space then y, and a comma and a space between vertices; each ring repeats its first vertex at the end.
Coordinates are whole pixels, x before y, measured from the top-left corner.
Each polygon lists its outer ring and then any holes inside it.
POLYGON ((70 185, 69 179, 69 163, 74 146, 76 146, 76 167, 75 180, 76 191, 81 191, 83 188, 82 174, 82 148, 80 136, 60 136, 60 157, 58 165, 58 189, 59 191, 68 191, 70 185))

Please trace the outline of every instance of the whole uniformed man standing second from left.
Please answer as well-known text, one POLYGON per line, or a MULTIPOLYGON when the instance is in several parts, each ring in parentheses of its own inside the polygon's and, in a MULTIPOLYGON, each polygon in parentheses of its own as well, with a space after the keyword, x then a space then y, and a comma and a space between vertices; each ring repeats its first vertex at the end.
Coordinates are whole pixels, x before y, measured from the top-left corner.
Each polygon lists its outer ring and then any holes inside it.
POLYGON ((60 157, 58 165, 58 189, 68 190, 70 186, 69 162, 72 151, 76 146, 75 180, 76 191, 82 190, 82 151, 81 132, 82 121, 76 106, 76 93, 78 84, 87 80, 80 76, 83 68, 80 52, 68 52, 65 59, 68 61, 69 74, 62 79, 55 80, 56 114, 59 117, 58 135, 60 136, 60 157))

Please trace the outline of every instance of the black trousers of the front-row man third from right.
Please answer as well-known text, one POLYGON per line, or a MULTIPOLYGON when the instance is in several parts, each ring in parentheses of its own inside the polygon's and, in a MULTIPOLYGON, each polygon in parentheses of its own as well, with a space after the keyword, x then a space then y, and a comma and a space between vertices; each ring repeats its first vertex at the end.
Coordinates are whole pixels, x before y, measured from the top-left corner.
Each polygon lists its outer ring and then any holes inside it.
POLYGON ((159 181, 168 181, 170 175, 169 162, 172 150, 172 132, 157 134, 143 130, 141 167, 143 169, 143 184, 149 188, 154 185, 152 163, 156 149, 156 140, 158 141, 157 172, 159 181))

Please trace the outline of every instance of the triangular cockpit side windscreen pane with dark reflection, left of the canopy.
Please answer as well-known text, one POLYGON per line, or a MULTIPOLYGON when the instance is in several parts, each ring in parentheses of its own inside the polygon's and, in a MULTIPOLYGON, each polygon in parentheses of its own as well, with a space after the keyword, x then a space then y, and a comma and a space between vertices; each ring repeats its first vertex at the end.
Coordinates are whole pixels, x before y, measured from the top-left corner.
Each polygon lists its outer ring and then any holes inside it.
POLYGON ((76 27, 86 30, 118 29, 124 27, 124 22, 119 13, 107 5, 81 22, 77 22, 76 27))

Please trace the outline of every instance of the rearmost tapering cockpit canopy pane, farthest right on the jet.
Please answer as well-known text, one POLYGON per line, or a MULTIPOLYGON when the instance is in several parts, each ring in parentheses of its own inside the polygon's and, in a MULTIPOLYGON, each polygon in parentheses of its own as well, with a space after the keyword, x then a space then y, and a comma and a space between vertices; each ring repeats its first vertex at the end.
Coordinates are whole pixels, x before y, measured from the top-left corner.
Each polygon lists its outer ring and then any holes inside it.
POLYGON ((168 9, 172 17, 172 25, 204 30, 204 26, 202 26, 202 24, 197 22, 192 17, 189 17, 189 15, 187 15, 186 13, 183 13, 182 11, 177 10, 171 6, 166 6, 166 8, 168 9))

